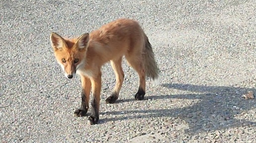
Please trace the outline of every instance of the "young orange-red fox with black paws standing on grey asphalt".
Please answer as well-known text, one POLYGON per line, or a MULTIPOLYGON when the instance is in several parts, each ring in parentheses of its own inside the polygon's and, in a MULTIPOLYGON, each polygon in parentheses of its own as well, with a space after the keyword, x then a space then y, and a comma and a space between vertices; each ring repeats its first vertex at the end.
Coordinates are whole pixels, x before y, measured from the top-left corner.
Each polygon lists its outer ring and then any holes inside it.
POLYGON ((55 32, 50 34, 54 56, 68 79, 76 74, 81 77, 81 105, 74 116, 81 117, 89 109, 90 92, 91 125, 98 124, 102 87, 101 67, 110 62, 115 72, 116 83, 106 104, 114 104, 124 81, 122 58, 139 77, 135 100, 143 100, 146 93, 146 77, 159 81, 159 69, 148 37, 138 21, 120 18, 102 25, 99 29, 80 36, 67 38, 55 32))

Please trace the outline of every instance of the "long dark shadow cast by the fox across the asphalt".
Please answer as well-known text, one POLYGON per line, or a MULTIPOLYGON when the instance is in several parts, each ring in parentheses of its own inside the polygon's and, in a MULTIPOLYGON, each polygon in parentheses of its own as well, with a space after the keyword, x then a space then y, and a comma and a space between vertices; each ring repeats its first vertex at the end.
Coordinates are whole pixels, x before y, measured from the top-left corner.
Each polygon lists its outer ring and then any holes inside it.
MULTIPOLYGON (((200 132, 210 132, 227 128, 236 128, 244 126, 256 126, 255 121, 247 119, 238 119, 236 116, 245 113, 256 107, 255 99, 245 100, 241 96, 248 91, 256 93, 255 88, 238 88, 228 86, 202 86, 192 84, 163 84, 163 87, 187 90, 192 92, 202 92, 202 94, 183 94, 183 95, 160 95, 146 96, 145 99, 164 100, 164 99, 188 99, 199 100, 192 106, 175 107, 172 109, 148 109, 132 111, 111 111, 101 114, 128 114, 141 113, 142 115, 125 116, 120 118, 107 118, 101 122, 127 120, 134 118, 150 117, 173 117, 185 120, 189 129, 185 130, 187 134, 196 134, 200 132)), ((129 102, 134 99, 121 100, 119 102, 129 102)), ((171 126, 171 125, 170 125, 171 126)))

